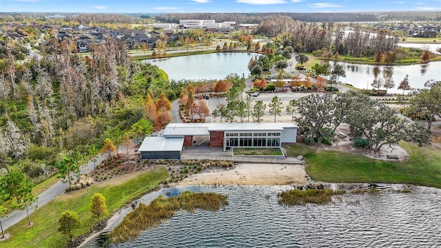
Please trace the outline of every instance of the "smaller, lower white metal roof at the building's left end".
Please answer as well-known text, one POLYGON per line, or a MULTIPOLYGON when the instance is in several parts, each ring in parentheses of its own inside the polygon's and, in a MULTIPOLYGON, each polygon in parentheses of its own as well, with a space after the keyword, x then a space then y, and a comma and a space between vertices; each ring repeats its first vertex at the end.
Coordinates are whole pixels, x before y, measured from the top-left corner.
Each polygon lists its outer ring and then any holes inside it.
POLYGON ((145 137, 139 152, 167 152, 181 151, 184 145, 184 137, 145 137))

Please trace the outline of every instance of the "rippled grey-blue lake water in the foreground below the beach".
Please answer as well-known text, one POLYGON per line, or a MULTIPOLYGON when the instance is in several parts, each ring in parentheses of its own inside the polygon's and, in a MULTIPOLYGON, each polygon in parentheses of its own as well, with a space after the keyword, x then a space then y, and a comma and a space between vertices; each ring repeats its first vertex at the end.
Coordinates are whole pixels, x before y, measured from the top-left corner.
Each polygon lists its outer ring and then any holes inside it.
MULTIPOLYGON (((220 211, 182 211, 114 247, 440 247, 441 190, 345 194, 329 205, 282 207, 289 187, 192 187, 228 196, 220 211)), ((94 240, 87 247, 99 247, 94 240)))

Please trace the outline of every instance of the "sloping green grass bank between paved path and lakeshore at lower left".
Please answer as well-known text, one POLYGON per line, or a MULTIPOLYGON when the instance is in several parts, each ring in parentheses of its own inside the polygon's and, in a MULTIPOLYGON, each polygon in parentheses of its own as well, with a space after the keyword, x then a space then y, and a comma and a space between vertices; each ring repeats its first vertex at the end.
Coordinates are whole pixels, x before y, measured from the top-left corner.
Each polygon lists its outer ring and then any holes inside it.
POLYGON ((106 198, 109 216, 116 210, 130 203, 131 200, 157 187, 167 178, 164 167, 155 167, 151 171, 127 174, 70 194, 61 194, 47 205, 37 209, 30 218, 34 225, 26 227, 27 219, 8 228, 12 237, 1 242, 1 247, 65 247, 68 238, 58 231, 58 219, 62 211, 71 209, 80 218, 80 227, 72 231, 74 237, 88 234, 98 220, 92 217, 90 202, 94 193, 101 193, 106 198))

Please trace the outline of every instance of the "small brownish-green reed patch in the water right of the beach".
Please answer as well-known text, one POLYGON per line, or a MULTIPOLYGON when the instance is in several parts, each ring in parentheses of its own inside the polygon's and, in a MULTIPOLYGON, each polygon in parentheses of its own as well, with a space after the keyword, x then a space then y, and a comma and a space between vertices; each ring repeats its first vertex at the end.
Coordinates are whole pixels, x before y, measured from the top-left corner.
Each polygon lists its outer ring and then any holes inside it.
POLYGON ((282 206, 306 205, 307 203, 316 203, 324 205, 331 203, 332 196, 345 194, 345 190, 339 189, 291 189, 288 192, 282 192, 278 199, 278 204, 282 206))

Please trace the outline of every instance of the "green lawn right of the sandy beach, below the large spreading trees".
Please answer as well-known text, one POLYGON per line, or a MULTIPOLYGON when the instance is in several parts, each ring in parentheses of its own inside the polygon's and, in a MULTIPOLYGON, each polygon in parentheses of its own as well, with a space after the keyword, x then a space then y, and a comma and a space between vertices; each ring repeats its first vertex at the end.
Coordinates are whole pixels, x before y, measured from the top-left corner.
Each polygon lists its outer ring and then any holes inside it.
POLYGON ((288 156, 303 155, 315 180, 333 183, 411 183, 441 188, 441 153, 433 147, 402 142, 407 161, 380 161, 358 154, 286 145, 288 156))

